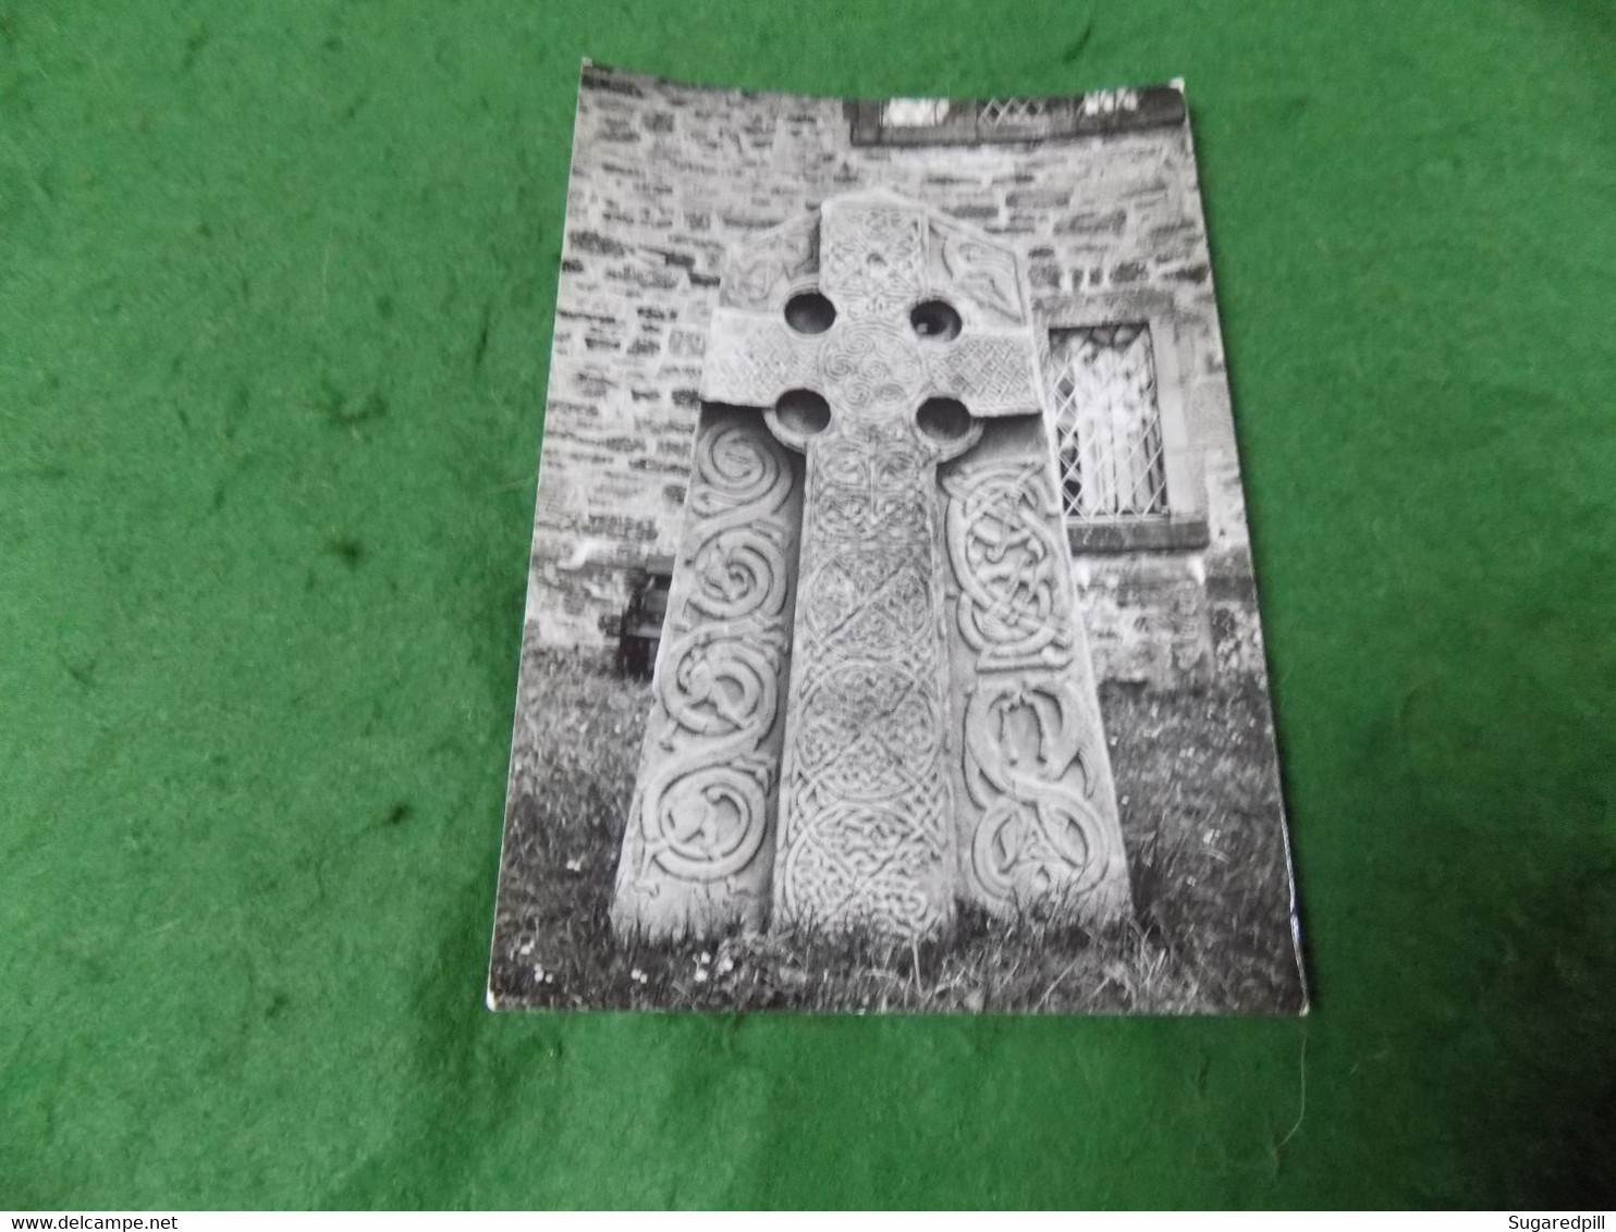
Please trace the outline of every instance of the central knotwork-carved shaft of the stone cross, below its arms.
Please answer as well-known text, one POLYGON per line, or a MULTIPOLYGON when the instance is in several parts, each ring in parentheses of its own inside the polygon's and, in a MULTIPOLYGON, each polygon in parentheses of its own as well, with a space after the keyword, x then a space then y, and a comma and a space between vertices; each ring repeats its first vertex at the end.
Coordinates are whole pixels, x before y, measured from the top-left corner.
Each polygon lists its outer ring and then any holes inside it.
POLYGON ((776 911, 921 937, 952 919, 957 864, 936 452, 902 418, 848 418, 808 449, 776 911))

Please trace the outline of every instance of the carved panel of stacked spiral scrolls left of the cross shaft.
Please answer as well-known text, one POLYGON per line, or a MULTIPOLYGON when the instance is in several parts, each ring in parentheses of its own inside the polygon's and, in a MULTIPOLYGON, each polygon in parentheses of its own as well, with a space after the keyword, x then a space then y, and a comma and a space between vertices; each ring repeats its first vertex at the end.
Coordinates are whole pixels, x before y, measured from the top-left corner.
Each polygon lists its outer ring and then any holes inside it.
POLYGON ((761 922, 795 583, 797 480, 753 417, 703 410, 612 917, 761 922))

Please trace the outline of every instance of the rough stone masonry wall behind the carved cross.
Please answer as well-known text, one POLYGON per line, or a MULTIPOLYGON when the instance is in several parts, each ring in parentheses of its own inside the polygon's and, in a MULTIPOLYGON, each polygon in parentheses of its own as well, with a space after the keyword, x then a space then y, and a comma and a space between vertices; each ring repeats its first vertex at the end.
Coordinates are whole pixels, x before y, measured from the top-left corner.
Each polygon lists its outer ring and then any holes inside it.
POLYGON ((629 570, 674 551, 708 318, 735 239, 889 187, 1021 250, 1047 328, 1155 337, 1204 491, 1206 547, 1081 552, 1102 680, 1262 670, 1246 520, 1186 124, 1041 142, 855 144, 839 100, 585 68, 528 589, 540 646, 609 651, 629 570))

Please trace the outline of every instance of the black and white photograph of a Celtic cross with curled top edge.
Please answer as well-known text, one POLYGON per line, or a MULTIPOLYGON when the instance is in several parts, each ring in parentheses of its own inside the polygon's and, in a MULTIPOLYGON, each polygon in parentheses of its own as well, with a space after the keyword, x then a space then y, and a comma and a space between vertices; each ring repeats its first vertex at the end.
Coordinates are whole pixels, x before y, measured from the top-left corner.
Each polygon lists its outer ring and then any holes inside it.
POLYGON ((490 1008, 1306 1012, 1181 84, 585 65, 548 381, 490 1008))

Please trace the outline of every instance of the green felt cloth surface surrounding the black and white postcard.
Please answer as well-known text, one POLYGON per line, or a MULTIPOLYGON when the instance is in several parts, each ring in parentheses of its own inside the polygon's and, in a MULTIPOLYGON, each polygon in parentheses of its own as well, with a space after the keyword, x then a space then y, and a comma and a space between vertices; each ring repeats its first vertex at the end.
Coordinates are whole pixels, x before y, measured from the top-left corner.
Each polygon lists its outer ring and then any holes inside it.
POLYGON ((1577 1205, 1598 0, 0 0, 0 1206, 1577 1205), (1306 1020, 482 1006, 579 60, 1188 79, 1306 1020))

